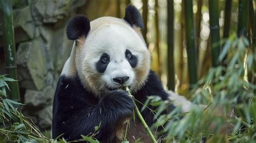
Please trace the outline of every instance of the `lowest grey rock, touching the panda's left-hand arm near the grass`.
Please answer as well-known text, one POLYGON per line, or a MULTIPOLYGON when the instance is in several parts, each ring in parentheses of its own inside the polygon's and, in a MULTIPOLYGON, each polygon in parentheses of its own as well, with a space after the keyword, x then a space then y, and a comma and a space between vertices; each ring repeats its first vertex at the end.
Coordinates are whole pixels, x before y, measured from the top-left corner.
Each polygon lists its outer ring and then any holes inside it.
POLYGON ((42 129, 50 129, 52 123, 52 105, 38 112, 39 126, 42 129))

